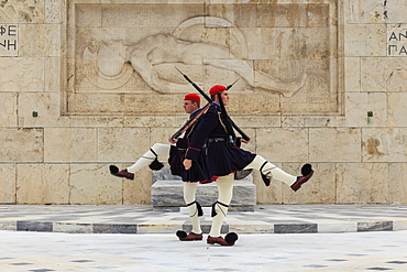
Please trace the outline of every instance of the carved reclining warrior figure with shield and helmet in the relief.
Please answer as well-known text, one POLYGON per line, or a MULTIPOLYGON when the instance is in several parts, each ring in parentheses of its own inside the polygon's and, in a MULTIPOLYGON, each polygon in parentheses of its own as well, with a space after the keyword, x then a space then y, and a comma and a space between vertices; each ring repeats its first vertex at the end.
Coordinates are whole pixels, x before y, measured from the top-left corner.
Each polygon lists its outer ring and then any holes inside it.
MULTIPOLYGON (((293 96, 304 86, 306 74, 297 80, 286 83, 272 75, 254 69, 253 65, 233 53, 230 48, 204 42, 187 41, 179 37, 179 29, 194 28, 194 22, 202 20, 219 22, 215 26, 235 26, 220 18, 191 18, 176 28, 174 34, 148 35, 135 43, 124 44, 122 40, 113 40, 107 33, 86 33, 86 44, 81 58, 82 73, 96 87, 117 89, 127 84, 132 76, 132 68, 155 91, 167 94, 179 90, 179 84, 163 79, 156 65, 186 64, 209 65, 237 73, 252 88, 261 88, 293 96), (191 21, 191 22, 189 22, 191 21)), ((240 35, 240 42, 246 41, 240 35)), ((84 41, 84 40, 79 40, 84 41)), ((242 52, 246 54, 246 52, 242 52)))

